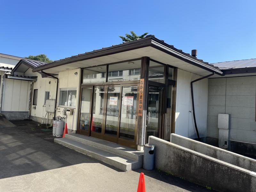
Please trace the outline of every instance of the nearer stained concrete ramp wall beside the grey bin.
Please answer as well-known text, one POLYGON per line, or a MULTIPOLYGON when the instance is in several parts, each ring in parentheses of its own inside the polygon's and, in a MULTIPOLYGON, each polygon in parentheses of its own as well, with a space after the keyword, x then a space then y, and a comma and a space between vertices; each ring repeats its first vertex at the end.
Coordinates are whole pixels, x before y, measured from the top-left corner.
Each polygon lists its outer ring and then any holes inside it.
POLYGON ((255 192, 256 173, 174 143, 149 136, 155 145, 155 168, 193 183, 225 192, 255 192))

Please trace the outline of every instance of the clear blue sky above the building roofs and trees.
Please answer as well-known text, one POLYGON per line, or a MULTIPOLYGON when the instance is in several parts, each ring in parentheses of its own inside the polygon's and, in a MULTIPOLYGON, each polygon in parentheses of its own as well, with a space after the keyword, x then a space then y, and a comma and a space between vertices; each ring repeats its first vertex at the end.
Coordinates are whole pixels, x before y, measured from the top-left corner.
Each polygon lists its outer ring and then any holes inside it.
POLYGON ((0 52, 51 60, 119 44, 133 30, 198 58, 256 58, 256 1, 0 0, 0 52))

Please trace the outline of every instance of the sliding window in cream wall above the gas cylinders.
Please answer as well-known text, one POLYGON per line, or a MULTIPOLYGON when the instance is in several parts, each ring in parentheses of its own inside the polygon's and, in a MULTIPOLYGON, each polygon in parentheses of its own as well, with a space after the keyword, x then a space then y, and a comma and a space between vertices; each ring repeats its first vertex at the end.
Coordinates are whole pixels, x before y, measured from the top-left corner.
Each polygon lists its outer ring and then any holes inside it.
POLYGON ((59 105, 76 107, 76 89, 60 89, 59 105))

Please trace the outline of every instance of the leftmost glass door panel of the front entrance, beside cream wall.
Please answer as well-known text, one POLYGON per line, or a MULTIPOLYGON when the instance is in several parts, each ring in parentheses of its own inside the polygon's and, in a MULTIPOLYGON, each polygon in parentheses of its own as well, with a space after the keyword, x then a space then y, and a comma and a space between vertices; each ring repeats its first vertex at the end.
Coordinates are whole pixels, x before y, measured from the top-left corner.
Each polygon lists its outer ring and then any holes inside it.
POLYGON ((78 130, 80 134, 89 136, 92 109, 92 87, 81 88, 80 116, 78 130))

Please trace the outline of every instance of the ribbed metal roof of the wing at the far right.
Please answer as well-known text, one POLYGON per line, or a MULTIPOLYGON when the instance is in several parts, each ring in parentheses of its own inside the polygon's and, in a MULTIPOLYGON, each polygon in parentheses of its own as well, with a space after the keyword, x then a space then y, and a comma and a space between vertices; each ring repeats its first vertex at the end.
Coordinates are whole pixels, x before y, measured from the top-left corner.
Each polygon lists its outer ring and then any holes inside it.
POLYGON ((225 61, 225 62, 211 63, 211 64, 214 67, 218 67, 220 69, 250 68, 250 67, 256 67, 256 59, 225 61))

